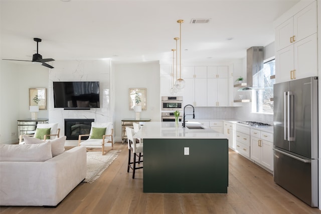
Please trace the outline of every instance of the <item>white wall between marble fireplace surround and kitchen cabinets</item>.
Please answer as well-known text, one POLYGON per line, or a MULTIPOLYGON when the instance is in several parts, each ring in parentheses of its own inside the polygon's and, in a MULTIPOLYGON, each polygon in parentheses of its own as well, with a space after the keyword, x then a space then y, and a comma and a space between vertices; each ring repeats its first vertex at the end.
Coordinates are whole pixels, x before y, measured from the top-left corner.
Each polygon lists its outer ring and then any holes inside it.
POLYGON ((160 121, 161 100, 159 98, 159 63, 135 63, 113 65, 115 85, 115 142, 121 141, 121 120, 134 119, 135 112, 129 110, 129 88, 146 88, 146 110, 140 118, 160 121))

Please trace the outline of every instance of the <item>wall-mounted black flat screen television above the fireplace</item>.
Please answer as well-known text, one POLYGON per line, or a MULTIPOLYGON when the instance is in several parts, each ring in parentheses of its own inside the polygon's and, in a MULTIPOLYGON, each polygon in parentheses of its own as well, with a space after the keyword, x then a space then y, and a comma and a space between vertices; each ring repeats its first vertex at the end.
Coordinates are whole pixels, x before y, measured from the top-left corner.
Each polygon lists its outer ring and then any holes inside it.
POLYGON ((99 108, 99 82, 53 82, 54 107, 99 108))

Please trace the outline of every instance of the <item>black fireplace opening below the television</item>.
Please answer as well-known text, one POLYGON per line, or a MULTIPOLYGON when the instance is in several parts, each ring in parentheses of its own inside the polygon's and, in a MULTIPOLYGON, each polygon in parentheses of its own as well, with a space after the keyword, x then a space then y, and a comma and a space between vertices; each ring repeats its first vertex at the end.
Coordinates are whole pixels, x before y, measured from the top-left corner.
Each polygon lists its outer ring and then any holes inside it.
MULTIPOLYGON (((78 135, 89 134, 94 119, 65 119, 65 135, 67 140, 78 140, 78 135)), ((82 137, 86 140, 89 136, 82 137)))

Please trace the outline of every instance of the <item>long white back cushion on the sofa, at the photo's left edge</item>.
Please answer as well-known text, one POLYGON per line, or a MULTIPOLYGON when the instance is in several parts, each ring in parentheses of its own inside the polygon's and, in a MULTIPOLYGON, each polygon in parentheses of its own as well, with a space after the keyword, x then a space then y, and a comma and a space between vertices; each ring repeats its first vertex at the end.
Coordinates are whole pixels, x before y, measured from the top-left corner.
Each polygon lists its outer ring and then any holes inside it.
POLYGON ((51 143, 0 144, 0 161, 46 161, 52 158, 51 143))

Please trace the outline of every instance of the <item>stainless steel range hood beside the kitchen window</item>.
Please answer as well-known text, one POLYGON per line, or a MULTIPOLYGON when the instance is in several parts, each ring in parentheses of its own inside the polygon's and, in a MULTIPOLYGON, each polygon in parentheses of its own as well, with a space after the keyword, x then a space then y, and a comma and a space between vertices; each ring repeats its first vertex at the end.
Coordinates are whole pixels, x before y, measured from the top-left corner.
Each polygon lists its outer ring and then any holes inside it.
POLYGON ((263 61, 264 47, 251 47, 246 51, 246 82, 247 87, 239 89, 239 91, 249 91, 263 89, 264 78, 263 61))

